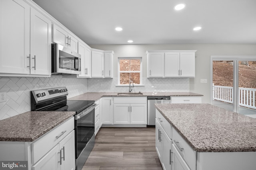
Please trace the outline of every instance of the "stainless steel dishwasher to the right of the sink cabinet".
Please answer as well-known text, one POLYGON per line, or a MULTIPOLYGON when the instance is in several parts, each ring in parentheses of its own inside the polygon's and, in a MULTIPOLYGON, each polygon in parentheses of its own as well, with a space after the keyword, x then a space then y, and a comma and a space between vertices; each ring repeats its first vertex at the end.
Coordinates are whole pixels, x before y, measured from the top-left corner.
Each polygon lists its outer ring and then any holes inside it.
POLYGON ((154 104, 171 103, 170 97, 148 97, 148 126, 156 125, 156 107, 154 104))

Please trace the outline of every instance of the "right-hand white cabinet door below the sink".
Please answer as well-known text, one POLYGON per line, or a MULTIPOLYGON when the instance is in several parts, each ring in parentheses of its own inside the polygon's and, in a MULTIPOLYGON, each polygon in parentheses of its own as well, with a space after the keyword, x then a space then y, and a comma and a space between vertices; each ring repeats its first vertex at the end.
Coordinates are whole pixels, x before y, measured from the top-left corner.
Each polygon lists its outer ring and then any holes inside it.
POLYGON ((130 123, 147 124, 147 104, 130 104, 130 123))

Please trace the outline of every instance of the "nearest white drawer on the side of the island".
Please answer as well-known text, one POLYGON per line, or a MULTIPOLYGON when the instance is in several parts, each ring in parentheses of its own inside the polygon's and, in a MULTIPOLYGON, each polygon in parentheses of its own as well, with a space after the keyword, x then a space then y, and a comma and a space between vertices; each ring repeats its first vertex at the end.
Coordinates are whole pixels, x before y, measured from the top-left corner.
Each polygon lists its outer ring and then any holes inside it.
POLYGON ((196 151, 193 150, 188 143, 180 136, 180 134, 172 128, 172 143, 186 161, 191 170, 196 170, 196 151), (179 149, 182 150, 180 150, 179 149))

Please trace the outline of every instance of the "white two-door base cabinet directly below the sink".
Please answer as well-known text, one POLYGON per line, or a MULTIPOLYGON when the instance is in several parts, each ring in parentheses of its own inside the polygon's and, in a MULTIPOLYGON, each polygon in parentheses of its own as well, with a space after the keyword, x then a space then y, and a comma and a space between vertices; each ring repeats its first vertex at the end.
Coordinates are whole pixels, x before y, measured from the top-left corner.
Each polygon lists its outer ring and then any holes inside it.
POLYGON ((147 124, 147 98, 114 98, 114 124, 147 124))

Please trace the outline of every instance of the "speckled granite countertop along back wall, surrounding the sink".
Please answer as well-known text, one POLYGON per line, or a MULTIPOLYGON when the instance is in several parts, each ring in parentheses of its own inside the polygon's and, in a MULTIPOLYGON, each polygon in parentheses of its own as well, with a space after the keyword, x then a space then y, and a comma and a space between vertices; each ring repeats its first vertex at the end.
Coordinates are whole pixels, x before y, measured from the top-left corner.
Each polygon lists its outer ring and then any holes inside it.
MULTIPOLYGON (((123 96, 203 96, 202 94, 192 93, 192 92, 142 92, 142 94, 118 94, 119 92, 94 92, 94 93, 84 93, 68 100, 99 100, 102 97, 123 97, 123 96)), ((120 92, 123 93, 123 92, 120 92)))

